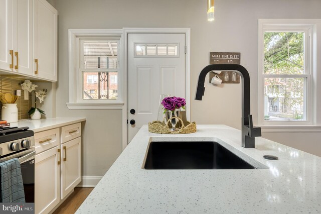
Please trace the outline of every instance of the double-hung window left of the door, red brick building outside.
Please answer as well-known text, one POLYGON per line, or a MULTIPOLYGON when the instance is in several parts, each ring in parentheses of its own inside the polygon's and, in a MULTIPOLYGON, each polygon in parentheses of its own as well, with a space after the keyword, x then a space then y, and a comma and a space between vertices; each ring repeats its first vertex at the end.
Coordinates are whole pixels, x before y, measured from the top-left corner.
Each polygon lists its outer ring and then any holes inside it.
POLYGON ((119 73, 119 42, 115 39, 79 40, 81 78, 81 99, 83 100, 116 100, 117 75, 119 73), (95 93, 90 91, 95 90, 95 93))

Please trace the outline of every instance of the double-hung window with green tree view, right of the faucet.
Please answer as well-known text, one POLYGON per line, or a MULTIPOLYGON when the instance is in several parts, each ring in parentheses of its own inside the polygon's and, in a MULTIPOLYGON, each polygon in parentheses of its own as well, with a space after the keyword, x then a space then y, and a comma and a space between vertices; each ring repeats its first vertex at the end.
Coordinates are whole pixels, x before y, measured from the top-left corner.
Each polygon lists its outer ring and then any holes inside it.
POLYGON ((259 20, 258 47, 259 125, 314 125, 315 23, 259 20))

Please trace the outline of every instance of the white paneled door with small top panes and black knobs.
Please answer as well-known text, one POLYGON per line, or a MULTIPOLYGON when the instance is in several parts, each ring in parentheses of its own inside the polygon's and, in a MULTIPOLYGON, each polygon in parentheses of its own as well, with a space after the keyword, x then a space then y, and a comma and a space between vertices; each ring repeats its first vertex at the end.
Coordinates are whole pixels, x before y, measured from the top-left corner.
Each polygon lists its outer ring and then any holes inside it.
POLYGON ((185 60, 184 33, 128 34, 128 142, 157 120, 161 94, 186 96, 185 60))

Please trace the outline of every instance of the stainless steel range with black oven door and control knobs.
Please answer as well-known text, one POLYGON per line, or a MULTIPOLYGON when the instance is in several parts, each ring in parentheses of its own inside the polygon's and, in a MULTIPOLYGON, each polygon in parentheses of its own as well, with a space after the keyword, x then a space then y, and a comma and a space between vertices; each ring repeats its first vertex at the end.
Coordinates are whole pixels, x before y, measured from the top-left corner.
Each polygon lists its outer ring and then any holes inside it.
POLYGON ((0 163, 18 158, 24 182, 26 202, 35 202, 34 132, 29 127, 0 129, 0 163))

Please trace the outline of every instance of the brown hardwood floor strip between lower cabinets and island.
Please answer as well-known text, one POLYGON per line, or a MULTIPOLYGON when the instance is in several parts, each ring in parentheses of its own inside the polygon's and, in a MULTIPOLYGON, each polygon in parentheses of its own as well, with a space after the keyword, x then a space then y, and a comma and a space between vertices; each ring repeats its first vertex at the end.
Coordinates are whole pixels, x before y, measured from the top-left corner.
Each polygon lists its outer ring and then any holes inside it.
POLYGON ((94 188, 75 188, 75 191, 53 212, 53 214, 72 214, 84 202, 94 188))

